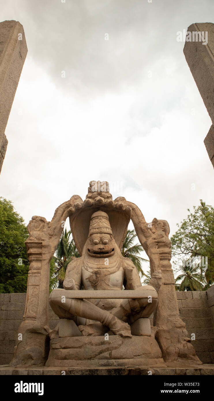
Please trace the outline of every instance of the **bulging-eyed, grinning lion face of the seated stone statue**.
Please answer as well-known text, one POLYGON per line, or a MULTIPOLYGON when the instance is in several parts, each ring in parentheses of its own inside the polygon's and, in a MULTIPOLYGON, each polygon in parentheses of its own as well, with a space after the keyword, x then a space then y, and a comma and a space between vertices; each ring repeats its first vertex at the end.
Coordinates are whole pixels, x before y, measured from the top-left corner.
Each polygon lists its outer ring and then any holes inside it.
POLYGON ((115 253, 115 240, 111 234, 93 233, 88 238, 88 254, 93 257, 111 257, 115 253))

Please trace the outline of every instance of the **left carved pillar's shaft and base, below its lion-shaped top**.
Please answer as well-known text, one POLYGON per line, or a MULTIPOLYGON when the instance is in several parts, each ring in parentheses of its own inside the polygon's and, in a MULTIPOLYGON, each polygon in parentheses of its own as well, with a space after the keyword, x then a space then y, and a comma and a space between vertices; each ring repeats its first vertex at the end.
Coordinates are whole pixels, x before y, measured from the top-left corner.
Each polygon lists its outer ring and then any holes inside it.
POLYGON ((44 366, 48 357, 49 261, 42 260, 40 241, 26 241, 30 267, 23 321, 19 326, 11 366, 44 366))

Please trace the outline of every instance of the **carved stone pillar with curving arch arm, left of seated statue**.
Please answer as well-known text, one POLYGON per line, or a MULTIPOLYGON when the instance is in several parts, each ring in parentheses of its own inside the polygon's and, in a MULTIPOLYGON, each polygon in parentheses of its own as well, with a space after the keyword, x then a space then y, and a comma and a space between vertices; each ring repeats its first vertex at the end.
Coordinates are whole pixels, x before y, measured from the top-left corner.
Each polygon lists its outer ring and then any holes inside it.
MULTIPOLYGON (((33 216, 25 242, 30 261, 26 303, 18 328, 11 366, 43 366, 49 352, 48 298, 50 260, 55 253, 64 223, 73 203, 64 202, 51 221, 33 216), (63 223, 63 224, 62 224, 63 223)), ((73 209, 72 209, 73 210, 73 209)))

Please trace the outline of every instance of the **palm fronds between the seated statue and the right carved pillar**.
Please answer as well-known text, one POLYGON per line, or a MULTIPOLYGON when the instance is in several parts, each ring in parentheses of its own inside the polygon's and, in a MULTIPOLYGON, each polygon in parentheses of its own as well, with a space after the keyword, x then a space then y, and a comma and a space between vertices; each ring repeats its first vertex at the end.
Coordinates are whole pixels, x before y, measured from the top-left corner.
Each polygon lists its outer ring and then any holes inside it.
POLYGON ((138 273, 143 277, 143 275, 145 274, 143 273, 141 263, 148 262, 148 260, 144 259, 141 256, 138 256, 141 252, 144 251, 144 249, 142 245, 134 243, 136 237, 137 234, 135 233, 135 230, 127 230, 121 253, 124 257, 128 257, 129 259, 131 259, 131 261, 137 268, 138 273))

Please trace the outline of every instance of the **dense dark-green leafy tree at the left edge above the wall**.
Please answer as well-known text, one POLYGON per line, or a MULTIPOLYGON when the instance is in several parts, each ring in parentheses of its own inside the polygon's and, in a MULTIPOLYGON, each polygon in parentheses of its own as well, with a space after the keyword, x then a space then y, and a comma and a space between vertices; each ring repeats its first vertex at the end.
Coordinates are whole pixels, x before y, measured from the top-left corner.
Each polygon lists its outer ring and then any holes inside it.
POLYGON ((28 237, 23 218, 11 201, 0 197, 0 293, 26 292, 28 256, 24 241, 28 237))

